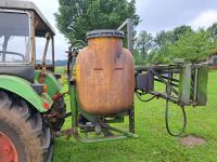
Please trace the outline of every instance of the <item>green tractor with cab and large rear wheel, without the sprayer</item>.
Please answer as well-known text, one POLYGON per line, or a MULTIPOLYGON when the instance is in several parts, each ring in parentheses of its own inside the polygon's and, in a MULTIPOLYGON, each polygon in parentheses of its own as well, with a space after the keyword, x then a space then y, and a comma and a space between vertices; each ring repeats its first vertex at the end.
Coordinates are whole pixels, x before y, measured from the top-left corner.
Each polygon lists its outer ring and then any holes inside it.
POLYGON ((1 1, 0 22, 0 161, 50 161, 52 131, 61 130, 66 112, 53 75, 55 32, 31 2, 1 1))

